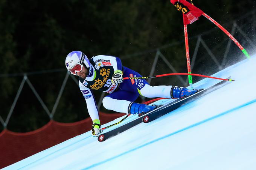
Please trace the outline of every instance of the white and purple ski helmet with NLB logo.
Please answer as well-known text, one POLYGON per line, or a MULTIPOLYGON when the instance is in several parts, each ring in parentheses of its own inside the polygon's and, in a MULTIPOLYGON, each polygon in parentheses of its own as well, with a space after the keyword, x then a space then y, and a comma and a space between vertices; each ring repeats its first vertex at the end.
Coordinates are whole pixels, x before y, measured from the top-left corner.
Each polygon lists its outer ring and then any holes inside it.
POLYGON ((73 68, 76 64, 80 63, 90 68, 90 62, 87 56, 82 51, 72 51, 66 57, 66 68, 69 70, 73 68))

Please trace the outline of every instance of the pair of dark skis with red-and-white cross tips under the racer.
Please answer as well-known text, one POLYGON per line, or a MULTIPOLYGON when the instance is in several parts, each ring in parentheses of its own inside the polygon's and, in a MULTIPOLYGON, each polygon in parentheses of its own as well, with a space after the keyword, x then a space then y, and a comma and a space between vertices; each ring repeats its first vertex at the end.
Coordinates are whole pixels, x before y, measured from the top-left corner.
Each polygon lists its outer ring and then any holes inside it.
MULTIPOLYGON (((230 77, 229 77, 230 78, 230 77)), ((227 78, 227 79, 229 79, 227 78)), ((162 105, 158 108, 156 108, 155 110, 152 110, 146 114, 143 114, 142 116, 139 116, 137 117, 136 119, 134 120, 131 120, 130 122, 128 123, 125 123, 124 125, 120 126, 120 127, 117 127, 111 131, 108 131, 108 132, 105 132, 104 133, 104 129, 106 128, 109 128, 109 127, 112 127, 116 124, 121 124, 123 123, 122 121, 128 117, 126 116, 125 118, 123 118, 121 121, 113 124, 113 125, 110 125, 110 126, 107 126, 105 128, 102 128, 103 129, 103 133, 101 135, 98 136, 98 141, 102 142, 102 141, 105 141, 107 140, 108 138, 111 138, 111 137, 114 137, 124 131, 126 131, 127 129, 130 129, 132 128, 133 126, 136 126, 138 125, 139 123, 149 123, 149 122, 152 122, 153 120, 155 119, 158 119, 159 117, 167 114, 167 113, 170 113, 171 111, 174 111, 175 109, 179 108, 181 105, 187 103, 187 102, 192 102, 194 101, 195 99, 211 92, 213 89, 216 90, 220 87, 222 87, 221 85, 226 85, 228 84, 229 81, 225 81, 225 80, 222 80, 221 82, 207 88, 207 89, 203 89, 203 90, 200 90, 199 92, 195 93, 194 95, 191 95, 191 96, 188 96, 184 99, 177 99, 169 104, 166 104, 166 105, 162 105)))

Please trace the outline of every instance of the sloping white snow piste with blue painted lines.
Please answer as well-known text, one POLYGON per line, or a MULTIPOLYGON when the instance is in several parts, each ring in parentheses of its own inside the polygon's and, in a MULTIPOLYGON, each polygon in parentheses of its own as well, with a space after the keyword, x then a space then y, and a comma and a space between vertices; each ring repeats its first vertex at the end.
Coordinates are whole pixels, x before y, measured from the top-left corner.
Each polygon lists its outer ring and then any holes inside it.
MULTIPOLYGON (((214 74, 235 81, 151 123, 140 123, 104 142, 86 132, 4 170, 255 170, 255 66, 254 55, 214 74)), ((217 82, 206 78, 194 87, 217 82)))

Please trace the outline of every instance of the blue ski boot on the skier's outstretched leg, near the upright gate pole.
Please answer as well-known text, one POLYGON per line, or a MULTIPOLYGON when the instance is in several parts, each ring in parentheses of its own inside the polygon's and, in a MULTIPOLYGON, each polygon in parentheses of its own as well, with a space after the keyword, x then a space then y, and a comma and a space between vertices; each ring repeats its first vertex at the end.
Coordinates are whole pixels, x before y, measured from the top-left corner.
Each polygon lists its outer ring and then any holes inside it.
POLYGON ((171 89, 171 98, 172 99, 177 99, 177 98, 186 98, 188 96, 194 95, 197 93, 199 90, 189 90, 184 87, 178 87, 178 86, 172 86, 171 89))

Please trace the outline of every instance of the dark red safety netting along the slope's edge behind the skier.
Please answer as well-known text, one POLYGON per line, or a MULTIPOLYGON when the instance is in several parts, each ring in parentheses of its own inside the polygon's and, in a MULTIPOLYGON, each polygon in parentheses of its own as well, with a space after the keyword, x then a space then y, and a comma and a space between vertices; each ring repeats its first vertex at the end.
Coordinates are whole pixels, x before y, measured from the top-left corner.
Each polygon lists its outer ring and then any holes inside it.
MULTIPOLYGON (((124 113, 99 113, 101 124, 110 122, 124 113)), ((3 130, 0 133, 0 169, 91 130, 91 118, 74 123, 49 123, 31 132, 18 133, 3 130)))

